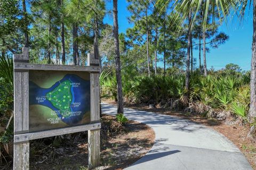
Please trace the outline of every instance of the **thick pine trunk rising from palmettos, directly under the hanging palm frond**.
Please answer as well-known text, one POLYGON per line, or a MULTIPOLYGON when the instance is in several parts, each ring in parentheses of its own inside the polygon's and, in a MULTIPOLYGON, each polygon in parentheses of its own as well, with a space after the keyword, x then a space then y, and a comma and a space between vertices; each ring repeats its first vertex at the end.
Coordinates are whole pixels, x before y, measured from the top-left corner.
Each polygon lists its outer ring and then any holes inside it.
POLYGON ((189 10, 188 14, 188 46, 187 46, 187 61, 186 61, 186 82, 185 82, 185 88, 186 90, 189 89, 189 77, 190 77, 190 72, 189 72, 189 66, 190 66, 190 46, 191 46, 191 9, 189 10))

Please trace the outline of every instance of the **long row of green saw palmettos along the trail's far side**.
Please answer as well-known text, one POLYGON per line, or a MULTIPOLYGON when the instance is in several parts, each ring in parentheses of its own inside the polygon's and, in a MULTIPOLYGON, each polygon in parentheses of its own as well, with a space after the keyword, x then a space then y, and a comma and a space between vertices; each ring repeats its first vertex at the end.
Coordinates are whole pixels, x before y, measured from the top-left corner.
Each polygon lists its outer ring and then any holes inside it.
MULTIPOLYGON (((116 99, 117 95, 115 82, 115 77, 109 76, 103 84, 103 89, 105 89, 103 92, 110 94, 113 99, 116 99)), ((234 115, 246 117, 250 105, 249 84, 250 73, 248 72, 233 75, 212 72, 206 77, 199 72, 193 72, 190 75, 189 90, 185 88, 184 74, 134 76, 132 79, 123 77, 123 95, 127 102, 161 103, 162 105, 172 99, 172 101, 179 100, 186 107, 202 106, 203 104, 212 109, 223 110, 221 111, 222 115, 225 112, 230 115, 231 112, 234 115), (189 105, 188 103, 191 102, 194 104, 189 105)), ((167 106, 169 105, 167 104, 167 106)), ((209 110, 205 111, 204 115, 207 112, 209 110)), ((209 114, 206 115, 209 116, 209 114)))

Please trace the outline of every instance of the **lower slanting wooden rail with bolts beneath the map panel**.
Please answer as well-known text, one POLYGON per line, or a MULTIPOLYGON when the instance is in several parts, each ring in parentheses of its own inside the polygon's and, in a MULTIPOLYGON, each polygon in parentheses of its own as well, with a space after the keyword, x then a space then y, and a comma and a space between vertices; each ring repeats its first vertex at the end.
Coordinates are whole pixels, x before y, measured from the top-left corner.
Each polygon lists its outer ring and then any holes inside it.
POLYGON ((93 124, 87 124, 87 125, 51 129, 47 131, 17 134, 17 135, 14 135, 14 143, 21 143, 29 140, 41 139, 43 137, 51 137, 51 136, 69 134, 69 133, 83 132, 83 131, 89 131, 91 129, 100 129, 100 128, 101 128, 100 123, 93 123, 93 124))

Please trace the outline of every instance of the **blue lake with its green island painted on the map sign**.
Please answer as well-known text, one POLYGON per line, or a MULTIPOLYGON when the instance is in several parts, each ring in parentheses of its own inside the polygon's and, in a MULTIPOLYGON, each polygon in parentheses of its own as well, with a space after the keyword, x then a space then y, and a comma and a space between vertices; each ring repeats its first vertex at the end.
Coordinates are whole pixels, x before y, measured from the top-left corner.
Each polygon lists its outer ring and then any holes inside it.
POLYGON ((50 88, 42 88, 29 81, 29 105, 50 108, 69 126, 81 124, 90 111, 90 81, 73 74, 65 75, 50 88))

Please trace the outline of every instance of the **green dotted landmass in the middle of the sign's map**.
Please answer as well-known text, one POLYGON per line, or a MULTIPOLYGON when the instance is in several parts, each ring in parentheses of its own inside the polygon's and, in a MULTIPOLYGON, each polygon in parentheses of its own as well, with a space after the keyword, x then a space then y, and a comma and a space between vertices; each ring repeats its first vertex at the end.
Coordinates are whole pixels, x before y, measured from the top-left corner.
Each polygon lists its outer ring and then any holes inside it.
POLYGON ((65 118, 71 115, 71 86, 71 82, 66 80, 54 88, 53 91, 46 94, 46 99, 49 100, 55 108, 60 110, 61 115, 65 118))

